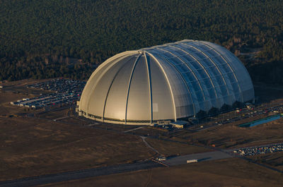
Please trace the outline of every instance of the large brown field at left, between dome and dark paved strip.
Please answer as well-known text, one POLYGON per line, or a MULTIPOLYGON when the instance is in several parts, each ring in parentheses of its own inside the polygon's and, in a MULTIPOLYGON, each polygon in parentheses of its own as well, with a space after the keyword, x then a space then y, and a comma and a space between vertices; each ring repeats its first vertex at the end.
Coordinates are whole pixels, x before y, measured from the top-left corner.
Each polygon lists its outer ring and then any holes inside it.
POLYGON ((152 157, 141 138, 88 126, 0 117, 0 180, 152 157))

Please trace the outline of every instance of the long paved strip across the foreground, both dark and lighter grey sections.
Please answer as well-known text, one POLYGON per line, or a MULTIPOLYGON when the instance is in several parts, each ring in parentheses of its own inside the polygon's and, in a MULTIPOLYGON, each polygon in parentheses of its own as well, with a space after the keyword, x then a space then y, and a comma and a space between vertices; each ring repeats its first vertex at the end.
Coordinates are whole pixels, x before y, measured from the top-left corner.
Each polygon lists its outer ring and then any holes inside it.
POLYGON ((164 164, 159 164, 158 162, 146 161, 139 162, 134 164, 120 164, 110 167, 100 167, 93 169, 82 169, 77 171, 68 171, 59 174, 47 174, 42 176, 32 176, 26 177, 23 179, 16 179, 11 181, 0 181, 0 187, 14 187, 14 186, 38 186, 47 183, 57 183, 61 181, 71 181, 76 179, 85 179, 93 176, 102 176, 109 174, 119 174, 129 171, 137 171, 141 169, 151 169, 154 167, 164 167, 166 165, 173 166, 178 164, 186 164, 187 159, 198 159, 199 162, 213 160, 213 159, 224 159, 230 158, 231 155, 228 155, 224 152, 214 151, 214 152, 202 152, 192 155, 184 155, 180 157, 173 157, 167 159, 164 164))

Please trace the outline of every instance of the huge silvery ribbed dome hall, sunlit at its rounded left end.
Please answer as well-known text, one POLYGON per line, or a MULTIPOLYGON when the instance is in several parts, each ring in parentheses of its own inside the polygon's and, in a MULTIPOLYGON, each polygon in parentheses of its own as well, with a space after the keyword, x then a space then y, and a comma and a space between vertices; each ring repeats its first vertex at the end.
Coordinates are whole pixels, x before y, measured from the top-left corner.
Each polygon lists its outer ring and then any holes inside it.
POLYGON ((246 68, 224 47, 183 40, 122 52, 88 79, 80 114, 112 123, 152 123, 254 99, 246 68))

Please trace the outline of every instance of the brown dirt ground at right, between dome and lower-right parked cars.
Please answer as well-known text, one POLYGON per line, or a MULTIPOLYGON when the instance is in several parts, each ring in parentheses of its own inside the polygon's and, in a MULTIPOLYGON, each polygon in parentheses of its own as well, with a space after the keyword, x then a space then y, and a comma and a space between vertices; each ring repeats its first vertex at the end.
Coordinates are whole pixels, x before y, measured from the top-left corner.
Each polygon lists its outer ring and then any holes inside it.
POLYGON ((264 123, 252 128, 224 125, 215 126, 196 133, 180 131, 175 133, 175 139, 187 140, 203 145, 216 145, 221 148, 246 147, 250 145, 265 145, 283 141, 283 119, 264 123))

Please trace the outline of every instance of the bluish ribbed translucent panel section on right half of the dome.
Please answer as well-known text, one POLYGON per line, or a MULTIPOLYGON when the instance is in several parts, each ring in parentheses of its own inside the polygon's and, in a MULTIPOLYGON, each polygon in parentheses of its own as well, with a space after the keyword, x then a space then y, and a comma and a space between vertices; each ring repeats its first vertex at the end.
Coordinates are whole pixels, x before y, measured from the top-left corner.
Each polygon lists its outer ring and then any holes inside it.
POLYGON ((223 47, 212 47, 207 43, 181 41, 150 51, 162 56, 178 70, 190 87, 193 103, 198 102, 200 109, 205 111, 211 107, 220 108, 223 104, 243 102, 243 90, 252 87, 252 84, 245 83, 245 80, 251 82, 246 68, 223 47), (245 75, 238 78, 237 71, 245 72, 245 75))

